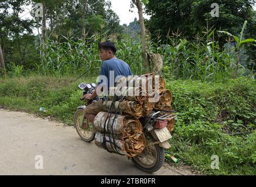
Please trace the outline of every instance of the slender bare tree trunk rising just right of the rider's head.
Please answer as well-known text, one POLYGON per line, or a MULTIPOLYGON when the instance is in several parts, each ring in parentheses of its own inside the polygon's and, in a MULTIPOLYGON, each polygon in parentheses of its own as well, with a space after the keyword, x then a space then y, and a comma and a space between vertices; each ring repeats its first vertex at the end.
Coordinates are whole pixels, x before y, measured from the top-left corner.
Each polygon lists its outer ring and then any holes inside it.
POLYGON ((146 30, 145 30, 145 24, 144 24, 144 18, 143 18, 143 9, 141 0, 133 0, 134 4, 138 8, 139 13, 139 25, 141 25, 141 38, 142 38, 142 57, 146 66, 146 71, 150 72, 150 65, 149 60, 146 56, 146 30))

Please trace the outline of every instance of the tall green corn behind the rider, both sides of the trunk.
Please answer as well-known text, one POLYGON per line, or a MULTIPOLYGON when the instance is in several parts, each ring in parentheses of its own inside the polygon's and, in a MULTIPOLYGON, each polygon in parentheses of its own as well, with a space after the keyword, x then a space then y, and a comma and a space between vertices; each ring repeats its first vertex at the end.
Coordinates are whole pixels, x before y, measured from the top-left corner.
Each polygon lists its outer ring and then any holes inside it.
MULTIPOLYGON (((167 34, 164 41, 158 36, 157 41, 148 40, 148 51, 161 54, 164 63, 163 76, 167 79, 221 81, 231 77, 230 66, 235 59, 227 51, 220 50, 215 33, 215 29, 207 29, 203 36, 197 34, 194 40, 182 39, 179 33, 172 36, 167 34)), ((98 44, 104 40, 115 43, 118 49, 117 58, 129 64, 134 74, 145 73, 139 36, 122 36, 120 39, 114 34, 107 36, 105 33, 95 33, 84 40, 72 36, 48 40, 45 58, 39 67, 40 72, 62 76, 90 70, 90 74, 98 75, 101 67, 98 44)))

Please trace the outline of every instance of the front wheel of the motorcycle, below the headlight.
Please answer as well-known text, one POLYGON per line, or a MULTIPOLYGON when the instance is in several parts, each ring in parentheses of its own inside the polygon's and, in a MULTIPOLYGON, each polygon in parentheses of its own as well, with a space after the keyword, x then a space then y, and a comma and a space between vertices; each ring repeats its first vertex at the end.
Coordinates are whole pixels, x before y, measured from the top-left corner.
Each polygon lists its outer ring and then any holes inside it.
POLYGON ((84 119, 85 123, 83 124, 83 116, 84 110, 77 109, 74 114, 74 127, 82 140, 91 142, 95 137, 93 124, 88 119, 84 119))

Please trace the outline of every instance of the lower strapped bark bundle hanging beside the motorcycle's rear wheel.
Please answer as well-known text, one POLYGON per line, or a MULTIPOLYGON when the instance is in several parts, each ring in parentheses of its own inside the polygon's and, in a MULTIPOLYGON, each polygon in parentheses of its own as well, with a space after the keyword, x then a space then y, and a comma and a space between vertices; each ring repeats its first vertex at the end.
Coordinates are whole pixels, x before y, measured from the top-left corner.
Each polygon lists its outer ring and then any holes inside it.
POLYGON ((95 144, 103 148, 104 127, 105 140, 108 150, 135 157, 142 153, 146 140, 142 125, 138 119, 129 116, 111 114, 108 124, 105 125, 107 112, 100 112, 94 119, 95 144))

